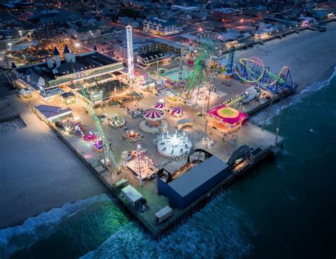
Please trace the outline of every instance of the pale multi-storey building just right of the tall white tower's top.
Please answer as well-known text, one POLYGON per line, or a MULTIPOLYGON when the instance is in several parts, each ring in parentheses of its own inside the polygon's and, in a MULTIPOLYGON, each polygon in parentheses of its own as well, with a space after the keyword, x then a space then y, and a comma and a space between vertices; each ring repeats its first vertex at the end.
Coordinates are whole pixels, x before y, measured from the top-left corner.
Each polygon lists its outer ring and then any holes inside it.
POLYGON ((159 18, 147 18, 143 21, 143 30, 153 35, 171 35, 178 33, 175 20, 162 20, 159 18))

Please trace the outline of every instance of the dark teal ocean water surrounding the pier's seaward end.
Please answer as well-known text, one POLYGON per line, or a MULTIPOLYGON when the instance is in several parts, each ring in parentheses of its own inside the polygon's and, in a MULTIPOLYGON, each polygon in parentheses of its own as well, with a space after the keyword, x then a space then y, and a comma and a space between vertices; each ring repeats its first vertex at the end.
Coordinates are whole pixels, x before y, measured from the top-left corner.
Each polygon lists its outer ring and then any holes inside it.
POLYGON ((334 75, 274 106, 281 154, 158 243, 103 194, 0 230, 0 257, 335 258, 335 100, 334 75))

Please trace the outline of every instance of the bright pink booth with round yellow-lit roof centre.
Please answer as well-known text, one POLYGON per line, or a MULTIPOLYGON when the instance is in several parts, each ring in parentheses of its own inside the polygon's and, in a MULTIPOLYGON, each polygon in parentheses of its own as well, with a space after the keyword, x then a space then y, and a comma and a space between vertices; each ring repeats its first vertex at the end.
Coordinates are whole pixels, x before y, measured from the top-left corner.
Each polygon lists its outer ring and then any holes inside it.
POLYGON ((220 105, 208 111, 208 125, 224 134, 245 125, 249 115, 227 105, 220 105))

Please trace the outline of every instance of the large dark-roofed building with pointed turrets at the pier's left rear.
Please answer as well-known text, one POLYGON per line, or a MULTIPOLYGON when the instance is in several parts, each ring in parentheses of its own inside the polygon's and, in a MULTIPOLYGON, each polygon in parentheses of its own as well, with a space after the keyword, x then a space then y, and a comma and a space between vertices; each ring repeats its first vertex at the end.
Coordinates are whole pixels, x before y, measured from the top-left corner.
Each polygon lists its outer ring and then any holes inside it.
POLYGON ((92 79, 103 74, 123 69, 123 62, 97 52, 75 55, 67 45, 62 53, 55 47, 53 56, 46 57, 45 62, 30 64, 13 69, 18 78, 18 85, 40 93, 44 100, 49 100, 64 93, 62 88, 76 81, 92 79))

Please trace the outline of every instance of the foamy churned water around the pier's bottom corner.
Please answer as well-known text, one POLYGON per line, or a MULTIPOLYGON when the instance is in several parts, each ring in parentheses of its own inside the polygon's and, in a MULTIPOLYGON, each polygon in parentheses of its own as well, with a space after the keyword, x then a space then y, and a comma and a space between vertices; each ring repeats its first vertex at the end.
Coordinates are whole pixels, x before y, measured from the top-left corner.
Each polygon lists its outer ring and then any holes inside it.
POLYGON ((130 222, 82 259, 242 258, 252 250, 245 231, 252 236, 258 233, 252 222, 222 194, 158 243, 138 224, 130 222))

